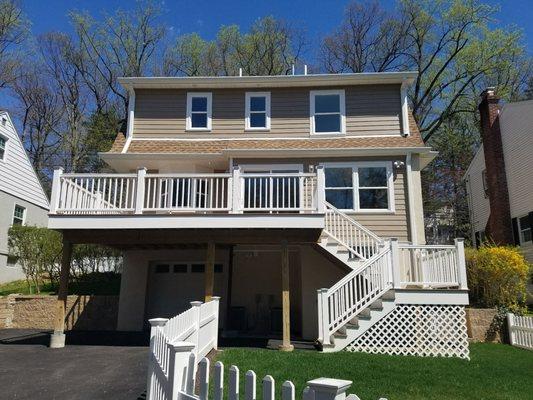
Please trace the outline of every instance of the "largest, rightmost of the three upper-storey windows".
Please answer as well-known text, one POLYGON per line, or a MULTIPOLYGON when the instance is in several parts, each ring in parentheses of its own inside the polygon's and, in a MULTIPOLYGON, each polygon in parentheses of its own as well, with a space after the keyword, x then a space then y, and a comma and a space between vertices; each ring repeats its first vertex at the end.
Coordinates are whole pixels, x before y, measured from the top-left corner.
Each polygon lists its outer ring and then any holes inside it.
POLYGON ((311 134, 344 134, 344 90, 311 92, 311 134))

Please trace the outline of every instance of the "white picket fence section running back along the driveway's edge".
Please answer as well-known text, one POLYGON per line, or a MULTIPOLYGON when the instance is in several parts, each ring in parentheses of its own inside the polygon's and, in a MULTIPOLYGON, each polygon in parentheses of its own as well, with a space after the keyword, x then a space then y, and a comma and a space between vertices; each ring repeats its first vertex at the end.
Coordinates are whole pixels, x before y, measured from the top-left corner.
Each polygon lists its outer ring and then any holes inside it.
POLYGON ((180 387, 184 368, 180 353, 186 351, 187 357, 190 353, 198 359, 217 348, 219 300, 193 301, 191 308, 171 319, 149 321, 147 400, 177 399, 176 388, 180 387))

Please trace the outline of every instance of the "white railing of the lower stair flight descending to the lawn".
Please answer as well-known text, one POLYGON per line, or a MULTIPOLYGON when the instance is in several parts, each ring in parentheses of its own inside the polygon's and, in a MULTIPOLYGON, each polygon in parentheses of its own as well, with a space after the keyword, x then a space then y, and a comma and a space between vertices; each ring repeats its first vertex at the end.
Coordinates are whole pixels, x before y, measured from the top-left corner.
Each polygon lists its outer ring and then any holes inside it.
POLYGON ((318 331, 322 344, 393 287, 390 245, 329 289, 318 291, 318 331))

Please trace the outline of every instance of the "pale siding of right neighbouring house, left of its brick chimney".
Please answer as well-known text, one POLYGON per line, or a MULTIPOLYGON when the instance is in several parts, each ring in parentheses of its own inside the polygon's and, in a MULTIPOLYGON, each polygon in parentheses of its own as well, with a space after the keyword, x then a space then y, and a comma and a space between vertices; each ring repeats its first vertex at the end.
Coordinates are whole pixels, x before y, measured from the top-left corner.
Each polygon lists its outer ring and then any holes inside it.
MULTIPOLYGON (((490 215, 489 199, 485 197, 485 189, 483 188, 482 172, 484 169, 485 155, 483 153, 483 146, 481 146, 472 159, 465 176, 470 208, 470 221, 474 233, 485 230, 490 215)), ((474 237, 472 237, 472 240, 474 240, 474 237)))

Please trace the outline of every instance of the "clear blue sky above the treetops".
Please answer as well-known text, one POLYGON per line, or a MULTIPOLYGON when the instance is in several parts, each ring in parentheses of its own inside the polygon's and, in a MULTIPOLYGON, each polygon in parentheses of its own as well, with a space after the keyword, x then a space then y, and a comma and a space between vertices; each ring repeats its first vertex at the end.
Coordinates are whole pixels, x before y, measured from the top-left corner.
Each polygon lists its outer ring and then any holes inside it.
MULTIPOLYGON (((495 16, 495 25, 514 24, 524 30, 531 52, 533 1, 485 1, 501 7, 495 16)), ((67 15, 73 9, 86 10, 96 16, 100 12, 112 13, 117 8, 134 6, 133 0, 23 0, 22 3, 36 34, 70 30, 67 15), (54 12, 51 13, 51 10, 54 12)), ((384 0, 383 3, 392 6, 394 0, 384 0)), ((166 0, 163 19, 176 33, 198 32, 205 38, 212 38, 220 25, 237 24, 246 30, 257 18, 274 15, 303 27, 314 41, 311 45, 316 47, 318 39, 339 24, 346 4, 346 0, 166 0)))

